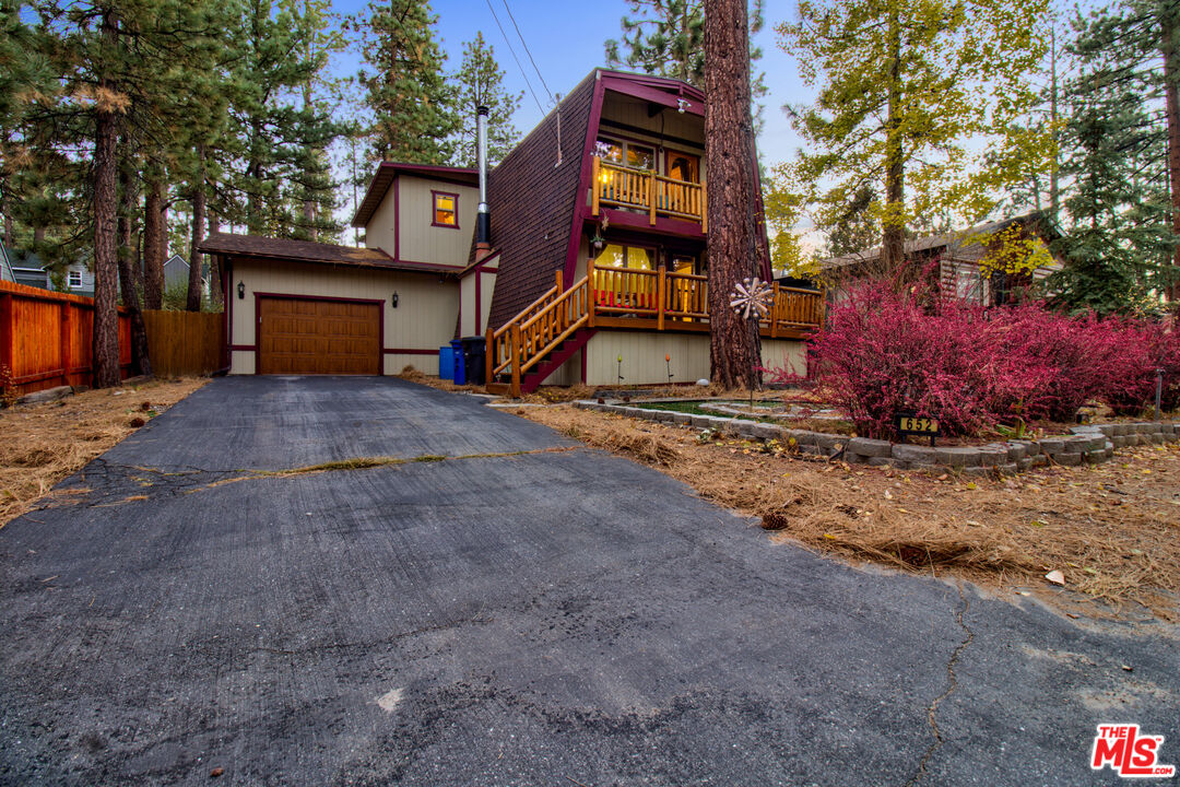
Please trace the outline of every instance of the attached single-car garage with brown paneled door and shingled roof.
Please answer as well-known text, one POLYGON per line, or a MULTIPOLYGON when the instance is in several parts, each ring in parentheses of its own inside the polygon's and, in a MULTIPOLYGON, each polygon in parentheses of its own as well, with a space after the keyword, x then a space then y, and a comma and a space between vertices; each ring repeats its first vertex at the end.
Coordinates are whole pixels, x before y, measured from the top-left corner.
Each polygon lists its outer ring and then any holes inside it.
POLYGON ((460 265, 381 249, 210 235, 225 286, 230 374, 438 374, 460 265))

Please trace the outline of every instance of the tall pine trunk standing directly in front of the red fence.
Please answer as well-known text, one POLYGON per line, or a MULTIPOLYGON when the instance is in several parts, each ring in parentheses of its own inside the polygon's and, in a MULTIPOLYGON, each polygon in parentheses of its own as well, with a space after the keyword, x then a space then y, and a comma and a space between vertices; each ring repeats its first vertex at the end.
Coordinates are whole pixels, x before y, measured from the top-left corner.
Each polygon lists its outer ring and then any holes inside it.
MULTIPOLYGON (((117 22, 110 11, 103 14, 103 45, 113 51, 118 44, 117 22)), ((99 87, 114 91, 111 79, 99 79, 99 87)), ((116 133, 118 119, 100 104, 94 112, 94 322, 91 332, 92 385, 106 388, 119 383, 119 314, 116 309, 118 248, 116 222, 118 196, 116 177, 116 133)))

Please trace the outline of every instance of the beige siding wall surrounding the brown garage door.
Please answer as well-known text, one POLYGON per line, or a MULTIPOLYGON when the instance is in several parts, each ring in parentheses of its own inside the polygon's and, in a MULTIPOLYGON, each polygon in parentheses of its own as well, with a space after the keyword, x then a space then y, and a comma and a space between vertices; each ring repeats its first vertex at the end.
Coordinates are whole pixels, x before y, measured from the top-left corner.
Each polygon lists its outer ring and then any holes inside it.
MULTIPOLYGON (((382 301, 384 347, 389 349, 438 350, 454 335, 459 287, 454 281, 440 282, 435 275, 297 262, 258 264, 237 261, 234 280, 245 284, 245 299, 234 299, 230 339, 234 345, 255 343, 255 293, 382 301), (396 309, 389 306, 394 291, 398 293, 396 309)), ((254 373, 253 352, 235 352, 231 361, 232 374, 254 373)), ((396 374, 407 363, 428 374, 438 373, 437 353, 388 354, 385 356, 385 373, 396 374)))

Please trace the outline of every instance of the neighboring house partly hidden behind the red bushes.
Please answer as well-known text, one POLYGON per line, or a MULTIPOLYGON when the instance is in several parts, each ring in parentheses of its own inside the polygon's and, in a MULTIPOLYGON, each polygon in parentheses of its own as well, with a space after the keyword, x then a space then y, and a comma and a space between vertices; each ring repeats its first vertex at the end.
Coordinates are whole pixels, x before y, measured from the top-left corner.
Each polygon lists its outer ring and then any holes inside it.
MULTIPOLYGON (((1057 237, 1041 214, 1031 212, 906 241, 905 258, 914 269, 937 262, 944 293, 979 306, 998 306, 1009 302, 1020 288, 1061 269, 1062 261, 1049 248, 1057 237), (996 257, 1005 241, 1009 249, 1014 241, 1022 243, 1021 251, 1035 254, 1041 264, 1020 273, 1004 271, 996 264, 996 257)), ((880 255, 881 248, 874 247, 821 261, 820 277, 828 284, 830 296, 838 300, 851 281, 885 274, 880 270, 880 255)))

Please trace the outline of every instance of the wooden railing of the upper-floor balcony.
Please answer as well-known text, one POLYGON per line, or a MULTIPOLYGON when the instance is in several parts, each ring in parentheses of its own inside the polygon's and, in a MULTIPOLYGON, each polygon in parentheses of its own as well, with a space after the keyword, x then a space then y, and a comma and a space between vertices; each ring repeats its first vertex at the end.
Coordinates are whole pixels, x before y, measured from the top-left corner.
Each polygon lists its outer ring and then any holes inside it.
POLYGON ((645 211, 653 225, 656 218, 670 217, 700 222, 702 232, 709 230, 703 184, 618 166, 604 162, 599 156, 594 157, 591 181, 591 209, 595 216, 602 205, 610 205, 645 211))

